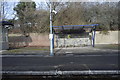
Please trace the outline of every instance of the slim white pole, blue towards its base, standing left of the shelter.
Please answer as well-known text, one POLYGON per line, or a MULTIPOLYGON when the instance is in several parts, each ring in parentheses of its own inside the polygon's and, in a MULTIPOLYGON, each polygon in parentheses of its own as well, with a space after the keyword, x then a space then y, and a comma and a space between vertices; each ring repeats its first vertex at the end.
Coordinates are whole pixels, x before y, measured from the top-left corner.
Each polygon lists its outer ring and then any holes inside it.
POLYGON ((52 29, 52 4, 50 2, 50 34, 49 34, 49 39, 50 39, 50 56, 54 56, 53 52, 53 29, 52 29))

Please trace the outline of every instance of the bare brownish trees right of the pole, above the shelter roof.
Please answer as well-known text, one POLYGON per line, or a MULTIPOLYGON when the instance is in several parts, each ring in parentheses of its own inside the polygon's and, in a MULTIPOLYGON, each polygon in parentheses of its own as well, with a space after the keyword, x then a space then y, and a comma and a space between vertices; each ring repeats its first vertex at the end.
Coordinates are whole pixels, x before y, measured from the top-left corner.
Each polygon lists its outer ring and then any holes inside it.
POLYGON ((55 25, 99 24, 97 30, 118 30, 118 7, 114 2, 66 3, 55 25))

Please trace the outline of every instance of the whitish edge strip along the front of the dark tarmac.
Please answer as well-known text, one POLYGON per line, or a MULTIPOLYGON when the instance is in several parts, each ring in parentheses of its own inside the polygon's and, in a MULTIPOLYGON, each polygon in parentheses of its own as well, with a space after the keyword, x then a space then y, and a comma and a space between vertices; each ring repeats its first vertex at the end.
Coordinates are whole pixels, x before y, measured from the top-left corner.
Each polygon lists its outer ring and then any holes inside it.
POLYGON ((119 75, 119 70, 86 70, 86 71, 2 71, 8 75, 119 75))

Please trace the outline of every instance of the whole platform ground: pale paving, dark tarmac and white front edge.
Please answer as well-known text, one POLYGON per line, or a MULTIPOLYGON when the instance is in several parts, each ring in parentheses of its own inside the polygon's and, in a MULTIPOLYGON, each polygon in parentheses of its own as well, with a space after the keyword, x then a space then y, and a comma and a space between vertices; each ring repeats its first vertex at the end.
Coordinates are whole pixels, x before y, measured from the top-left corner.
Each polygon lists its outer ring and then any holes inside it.
POLYGON ((120 75, 119 50, 92 47, 55 48, 54 53, 54 56, 49 56, 49 51, 42 50, 11 53, 4 51, 0 56, 2 74, 5 78, 8 75, 17 76, 17 78, 21 75, 29 75, 29 77, 94 74, 108 75, 107 77, 109 77, 109 75, 120 75))

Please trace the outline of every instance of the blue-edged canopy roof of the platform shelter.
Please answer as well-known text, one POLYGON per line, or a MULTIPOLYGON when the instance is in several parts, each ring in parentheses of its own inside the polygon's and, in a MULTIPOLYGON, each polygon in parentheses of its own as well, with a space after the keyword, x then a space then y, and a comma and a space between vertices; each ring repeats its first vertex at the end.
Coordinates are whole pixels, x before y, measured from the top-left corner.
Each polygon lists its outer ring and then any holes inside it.
POLYGON ((90 25, 63 25, 53 26, 55 34, 79 34, 83 32, 91 32, 98 26, 98 24, 90 25))

